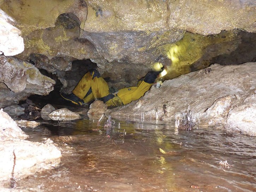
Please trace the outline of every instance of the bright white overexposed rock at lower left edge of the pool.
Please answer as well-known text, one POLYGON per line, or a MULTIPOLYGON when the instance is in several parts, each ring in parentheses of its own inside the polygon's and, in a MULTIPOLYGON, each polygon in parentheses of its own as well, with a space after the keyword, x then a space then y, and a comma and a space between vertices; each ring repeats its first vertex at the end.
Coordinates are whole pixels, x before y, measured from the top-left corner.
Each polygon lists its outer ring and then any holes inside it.
POLYGON ((2 109, 0 122, 0 188, 10 179, 15 186, 15 179, 58 166, 61 152, 50 139, 44 143, 24 140, 28 135, 2 109))

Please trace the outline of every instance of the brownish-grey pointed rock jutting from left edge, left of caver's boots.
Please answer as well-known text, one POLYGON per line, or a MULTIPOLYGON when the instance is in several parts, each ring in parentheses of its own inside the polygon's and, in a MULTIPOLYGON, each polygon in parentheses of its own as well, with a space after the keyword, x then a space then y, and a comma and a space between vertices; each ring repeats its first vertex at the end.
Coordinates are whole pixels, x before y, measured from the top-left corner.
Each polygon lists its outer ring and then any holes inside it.
POLYGON ((6 106, 6 101, 19 101, 31 94, 47 95, 53 90, 55 81, 29 62, 0 55, 0 64, 0 81, 7 86, 1 89, 5 94, 0 96, 0 106, 6 106))

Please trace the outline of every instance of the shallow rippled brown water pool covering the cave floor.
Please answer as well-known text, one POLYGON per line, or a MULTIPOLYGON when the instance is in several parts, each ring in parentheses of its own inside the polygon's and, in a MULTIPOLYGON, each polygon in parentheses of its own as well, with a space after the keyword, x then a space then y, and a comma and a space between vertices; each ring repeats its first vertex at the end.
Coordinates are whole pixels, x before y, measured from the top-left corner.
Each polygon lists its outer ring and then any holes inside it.
POLYGON ((28 140, 50 138, 61 163, 18 180, 36 192, 255 192, 254 137, 171 122, 40 121, 28 140))

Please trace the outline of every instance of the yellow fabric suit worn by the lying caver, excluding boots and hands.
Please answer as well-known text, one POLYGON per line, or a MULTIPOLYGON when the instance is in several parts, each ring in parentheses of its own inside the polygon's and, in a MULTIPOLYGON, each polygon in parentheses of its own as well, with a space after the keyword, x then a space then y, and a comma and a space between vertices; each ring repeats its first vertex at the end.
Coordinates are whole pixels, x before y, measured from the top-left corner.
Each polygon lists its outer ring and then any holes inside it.
POLYGON ((107 82, 94 70, 86 73, 72 92, 84 103, 98 99, 105 102, 107 106, 121 106, 142 97, 152 85, 153 83, 146 83, 142 80, 136 87, 120 89, 117 94, 112 95, 107 82))

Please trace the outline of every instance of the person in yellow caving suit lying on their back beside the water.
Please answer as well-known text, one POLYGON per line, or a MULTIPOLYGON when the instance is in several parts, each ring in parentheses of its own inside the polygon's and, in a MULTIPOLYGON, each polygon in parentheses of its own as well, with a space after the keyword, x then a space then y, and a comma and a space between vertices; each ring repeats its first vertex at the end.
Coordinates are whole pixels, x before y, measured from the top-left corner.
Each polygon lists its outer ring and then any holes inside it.
POLYGON ((93 100, 100 100, 108 107, 118 107, 142 97, 163 70, 164 67, 160 71, 149 71, 144 78, 138 81, 137 86, 119 89, 117 92, 111 93, 107 82, 96 69, 93 69, 84 74, 71 94, 60 93, 60 95, 65 100, 79 106, 93 100))

